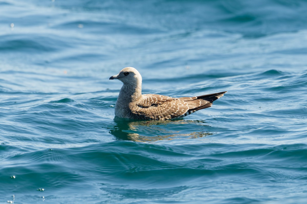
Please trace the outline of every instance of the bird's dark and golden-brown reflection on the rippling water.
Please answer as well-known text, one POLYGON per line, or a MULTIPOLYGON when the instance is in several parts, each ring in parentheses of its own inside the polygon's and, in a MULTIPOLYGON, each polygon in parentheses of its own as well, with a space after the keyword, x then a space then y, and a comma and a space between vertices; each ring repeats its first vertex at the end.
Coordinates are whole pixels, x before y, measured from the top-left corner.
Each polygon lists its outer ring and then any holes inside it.
MULTIPOLYGON (((132 120, 114 118, 110 133, 119 140, 150 142, 175 138, 201 138, 214 133, 205 131, 206 122, 201 120, 132 120), (190 125, 189 125, 190 124, 190 125), (191 129, 191 125, 201 125, 202 130, 191 129)), ((195 127, 195 126, 194 126, 195 127)), ((199 126, 197 126, 199 127, 199 126)))

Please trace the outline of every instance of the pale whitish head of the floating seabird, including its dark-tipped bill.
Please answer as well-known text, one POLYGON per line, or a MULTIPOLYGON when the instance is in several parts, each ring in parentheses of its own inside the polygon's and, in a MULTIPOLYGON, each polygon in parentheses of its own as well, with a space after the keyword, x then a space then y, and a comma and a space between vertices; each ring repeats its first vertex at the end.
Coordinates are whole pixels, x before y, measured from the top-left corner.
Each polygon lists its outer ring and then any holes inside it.
POLYGON ((122 81, 122 83, 126 85, 137 85, 139 83, 142 84, 142 76, 138 72, 138 70, 134 69, 133 67, 126 67, 123 68, 119 74, 111 76, 110 79, 118 79, 122 81))

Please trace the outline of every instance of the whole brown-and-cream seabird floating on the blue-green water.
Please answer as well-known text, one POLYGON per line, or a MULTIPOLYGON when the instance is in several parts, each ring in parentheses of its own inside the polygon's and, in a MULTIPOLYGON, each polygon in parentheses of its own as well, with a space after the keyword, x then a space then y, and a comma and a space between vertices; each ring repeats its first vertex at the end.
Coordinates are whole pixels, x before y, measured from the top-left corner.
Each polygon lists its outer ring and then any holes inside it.
POLYGON ((159 94, 142 95, 142 76, 133 67, 122 69, 110 77, 123 85, 115 105, 115 116, 130 119, 165 120, 182 118, 212 106, 227 91, 202 96, 173 98, 159 94))

